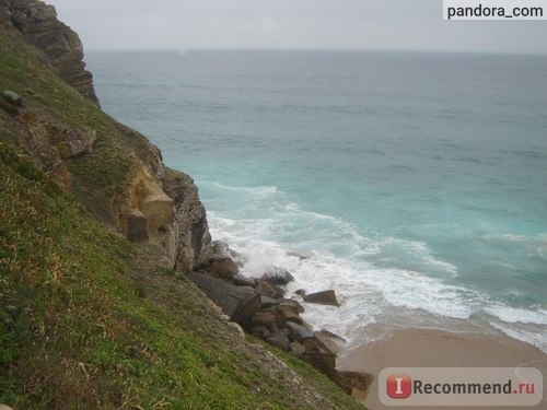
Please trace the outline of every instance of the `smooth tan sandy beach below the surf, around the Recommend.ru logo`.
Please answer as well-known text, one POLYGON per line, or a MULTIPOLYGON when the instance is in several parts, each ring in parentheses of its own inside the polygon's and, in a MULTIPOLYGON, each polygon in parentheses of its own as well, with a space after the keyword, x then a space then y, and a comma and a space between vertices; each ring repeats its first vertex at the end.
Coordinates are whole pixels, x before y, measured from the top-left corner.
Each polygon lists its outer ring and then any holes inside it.
MULTIPOLYGON (((404 329, 340 355, 338 368, 368 372, 374 383, 368 394, 354 396, 371 410, 393 409, 377 397, 377 375, 385 367, 536 367, 544 375, 546 391, 547 354, 503 335, 451 333, 440 330, 404 329)), ((400 407, 418 409, 416 407, 400 407)), ((476 409, 491 407, 477 407, 476 409)), ((507 407, 508 409, 514 407, 507 407)), ((547 410, 547 400, 529 409, 547 410)), ((433 407, 428 407, 433 409, 433 407)), ((451 407, 451 409, 475 409, 451 407)))

